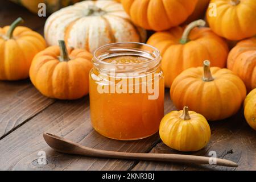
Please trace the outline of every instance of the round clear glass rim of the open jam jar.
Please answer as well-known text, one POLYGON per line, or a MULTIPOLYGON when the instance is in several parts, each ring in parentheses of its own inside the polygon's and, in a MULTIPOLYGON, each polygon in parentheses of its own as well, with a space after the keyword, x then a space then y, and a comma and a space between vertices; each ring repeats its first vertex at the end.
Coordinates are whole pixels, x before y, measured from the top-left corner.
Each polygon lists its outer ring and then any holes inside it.
MULTIPOLYGON (((144 65, 144 64, 150 64, 156 60, 159 60, 159 63, 160 63, 160 51, 155 48, 154 46, 151 46, 149 44, 145 44, 145 43, 140 43, 140 42, 118 42, 118 43, 110 43, 110 44, 106 44, 104 46, 101 46, 99 48, 97 48, 94 52, 93 52, 93 61, 96 60, 97 63, 100 63, 100 64, 105 64, 105 65, 115 65, 115 66, 118 66, 120 64, 114 64, 114 63, 108 63, 106 61, 103 61, 101 59, 98 59, 98 56, 96 55, 98 51, 100 51, 101 49, 104 49, 104 48, 107 48, 107 47, 111 47, 111 46, 115 46, 115 45, 120 45, 120 44, 137 44, 137 45, 141 45, 141 46, 146 46, 146 47, 149 47, 151 48, 152 50, 154 50, 153 52, 155 52, 155 57, 150 59, 149 61, 147 61, 146 63, 138 63, 136 65, 144 65)), ((142 52, 146 52, 146 50, 141 50, 142 52)), ((134 66, 134 65, 131 65, 131 64, 122 64, 122 66, 125 66, 125 67, 130 67, 130 66, 134 66)))

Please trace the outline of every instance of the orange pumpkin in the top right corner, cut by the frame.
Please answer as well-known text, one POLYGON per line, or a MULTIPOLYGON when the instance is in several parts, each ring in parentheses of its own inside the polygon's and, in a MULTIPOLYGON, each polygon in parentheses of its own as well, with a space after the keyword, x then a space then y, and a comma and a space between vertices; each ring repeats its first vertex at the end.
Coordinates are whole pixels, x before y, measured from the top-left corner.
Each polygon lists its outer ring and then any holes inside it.
POLYGON ((217 16, 210 16, 208 8, 207 20, 210 28, 229 40, 241 40, 256 34, 256 1, 240 0, 232 5, 232 0, 212 0, 217 6, 217 16))

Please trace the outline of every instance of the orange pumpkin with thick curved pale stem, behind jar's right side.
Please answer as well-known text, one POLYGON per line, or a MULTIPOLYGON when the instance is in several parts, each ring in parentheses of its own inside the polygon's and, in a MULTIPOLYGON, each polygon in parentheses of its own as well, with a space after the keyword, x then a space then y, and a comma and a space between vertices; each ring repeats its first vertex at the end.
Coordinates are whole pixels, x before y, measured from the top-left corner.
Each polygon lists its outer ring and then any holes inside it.
POLYGON ((204 20, 196 20, 186 28, 175 27, 169 31, 156 32, 148 44, 159 49, 166 87, 171 87, 175 77, 185 69, 200 67, 204 60, 212 60, 215 67, 226 67, 228 45, 204 26, 204 20))

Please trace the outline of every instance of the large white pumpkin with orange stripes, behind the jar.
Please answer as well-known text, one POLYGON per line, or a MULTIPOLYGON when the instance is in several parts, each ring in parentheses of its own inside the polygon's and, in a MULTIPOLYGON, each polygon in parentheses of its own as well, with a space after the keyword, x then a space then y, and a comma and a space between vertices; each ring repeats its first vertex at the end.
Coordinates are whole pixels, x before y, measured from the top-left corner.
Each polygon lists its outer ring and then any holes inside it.
POLYGON ((84 1, 65 7, 49 16, 44 35, 49 45, 64 39, 69 47, 90 52, 109 43, 146 40, 146 31, 134 26, 116 1, 84 1))

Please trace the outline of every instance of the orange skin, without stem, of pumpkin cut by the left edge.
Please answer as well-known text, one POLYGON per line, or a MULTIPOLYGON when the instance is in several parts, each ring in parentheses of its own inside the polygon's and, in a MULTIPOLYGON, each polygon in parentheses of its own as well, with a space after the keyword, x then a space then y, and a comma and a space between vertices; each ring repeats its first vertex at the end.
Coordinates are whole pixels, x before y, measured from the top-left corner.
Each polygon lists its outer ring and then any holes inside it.
POLYGON ((16 27, 13 38, 7 40, 10 26, 0 28, 0 80, 28 78, 33 57, 46 48, 46 42, 37 32, 27 27, 16 27))

